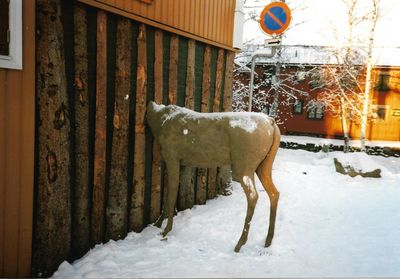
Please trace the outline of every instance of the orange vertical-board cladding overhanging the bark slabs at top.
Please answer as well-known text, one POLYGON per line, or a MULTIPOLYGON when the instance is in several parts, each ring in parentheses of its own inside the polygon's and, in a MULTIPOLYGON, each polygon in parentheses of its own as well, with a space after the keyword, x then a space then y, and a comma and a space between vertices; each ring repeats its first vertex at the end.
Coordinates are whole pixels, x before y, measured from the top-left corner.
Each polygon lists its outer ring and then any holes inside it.
POLYGON ((80 1, 191 39, 232 48, 236 0, 80 1))

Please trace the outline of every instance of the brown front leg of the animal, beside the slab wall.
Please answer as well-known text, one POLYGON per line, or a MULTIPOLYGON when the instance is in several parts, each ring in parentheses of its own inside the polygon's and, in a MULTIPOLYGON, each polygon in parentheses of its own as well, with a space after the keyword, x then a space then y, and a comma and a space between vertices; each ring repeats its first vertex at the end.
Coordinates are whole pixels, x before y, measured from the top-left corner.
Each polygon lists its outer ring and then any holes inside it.
POLYGON ((179 188, 179 160, 168 160, 166 161, 166 165, 168 171, 168 194, 165 209, 168 215, 168 223, 162 233, 163 236, 166 236, 172 230, 175 203, 179 188))

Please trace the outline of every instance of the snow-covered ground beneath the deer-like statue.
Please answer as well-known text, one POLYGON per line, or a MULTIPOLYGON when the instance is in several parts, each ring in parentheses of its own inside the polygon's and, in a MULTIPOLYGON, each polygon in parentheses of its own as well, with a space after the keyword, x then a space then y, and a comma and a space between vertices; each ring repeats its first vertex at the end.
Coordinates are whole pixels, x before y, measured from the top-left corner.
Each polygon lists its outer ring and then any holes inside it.
POLYGON ((231 196, 180 212, 167 240, 149 226, 64 262, 53 276, 400 276, 400 158, 370 156, 367 165, 381 166, 383 177, 350 178, 335 172, 335 154, 279 150, 273 176, 281 196, 269 248, 269 201, 258 181, 249 240, 233 252, 246 211, 234 183, 231 196))

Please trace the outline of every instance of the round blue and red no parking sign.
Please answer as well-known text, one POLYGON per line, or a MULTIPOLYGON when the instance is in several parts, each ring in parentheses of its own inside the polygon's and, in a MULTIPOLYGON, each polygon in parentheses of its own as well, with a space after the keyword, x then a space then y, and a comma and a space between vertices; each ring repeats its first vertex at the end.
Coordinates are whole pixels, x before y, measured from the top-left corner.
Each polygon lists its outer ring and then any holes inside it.
POLYGON ((292 19, 289 7, 283 2, 272 2, 260 15, 261 29, 269 35, 280 35, 289 27, 292 19))

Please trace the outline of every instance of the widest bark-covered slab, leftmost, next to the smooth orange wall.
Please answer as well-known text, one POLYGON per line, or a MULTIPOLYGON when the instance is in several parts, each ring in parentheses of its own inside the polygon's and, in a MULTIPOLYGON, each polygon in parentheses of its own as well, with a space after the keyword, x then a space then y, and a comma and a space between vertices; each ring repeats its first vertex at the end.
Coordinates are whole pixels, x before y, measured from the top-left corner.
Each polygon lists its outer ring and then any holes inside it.
POLYGON ((47 277, 70 255, 71 127, 60 1, 36 4, 39 119, 33 274, 47 277))

